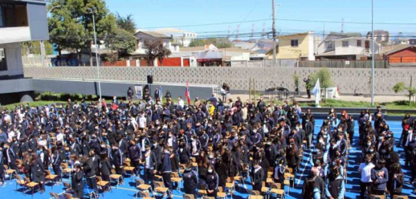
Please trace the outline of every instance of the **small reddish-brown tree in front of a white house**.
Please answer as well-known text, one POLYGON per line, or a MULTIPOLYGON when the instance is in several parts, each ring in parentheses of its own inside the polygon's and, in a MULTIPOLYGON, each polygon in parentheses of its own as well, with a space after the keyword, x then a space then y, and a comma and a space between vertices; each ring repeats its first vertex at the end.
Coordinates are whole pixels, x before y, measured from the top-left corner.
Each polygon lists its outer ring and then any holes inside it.
POLYGON ((171 55, 171 50, 166 49, 163 46, 162 40, 146 40, 144 41, 144 48, 146 50, 146 58, 148 60, 148 66, 153 66, 153 60, 159 60, 162 64, 163 59, 168 55, 171 55))

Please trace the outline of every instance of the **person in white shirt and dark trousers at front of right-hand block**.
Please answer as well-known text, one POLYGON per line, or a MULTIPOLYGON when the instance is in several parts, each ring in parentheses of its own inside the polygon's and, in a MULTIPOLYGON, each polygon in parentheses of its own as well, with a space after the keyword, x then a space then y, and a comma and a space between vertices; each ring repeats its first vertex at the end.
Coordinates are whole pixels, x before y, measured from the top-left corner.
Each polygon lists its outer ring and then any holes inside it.
POLYGON ((371 171, 375 167, 374 164, 371 162, 372 155, 367 154, 365 155, 365 162, 360 164, 358 171, 361 172, 361 181, 360 181, 360 189, 361 199, 365 198, 365 192, 367 192, 367 196, 370 196, 371 187, 372 187, 372 180, 371 180, 371 171))

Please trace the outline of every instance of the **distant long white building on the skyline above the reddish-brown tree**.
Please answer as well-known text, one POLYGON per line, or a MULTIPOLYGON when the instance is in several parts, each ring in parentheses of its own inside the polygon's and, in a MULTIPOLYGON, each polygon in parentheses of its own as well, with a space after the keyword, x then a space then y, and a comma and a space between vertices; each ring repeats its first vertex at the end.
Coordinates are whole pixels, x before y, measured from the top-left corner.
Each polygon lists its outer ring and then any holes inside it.
POLYGON ((177 28, 159 28, 155 32, 162 33, 164 35, 170 35, 173 38, 173 42, 181 44, 184 47, 188 47, 193 40, 196 40, 197 34, 184 31, 177 28))

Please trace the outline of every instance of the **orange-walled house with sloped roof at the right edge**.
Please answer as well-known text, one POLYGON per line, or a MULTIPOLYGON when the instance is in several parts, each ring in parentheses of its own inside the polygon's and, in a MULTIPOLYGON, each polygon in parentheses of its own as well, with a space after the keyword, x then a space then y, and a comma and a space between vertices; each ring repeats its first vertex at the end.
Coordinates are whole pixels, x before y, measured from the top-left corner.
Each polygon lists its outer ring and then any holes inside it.
POLYGON ((384 54, 390 64, 416 64, 416 46, 403 46, 384 54))

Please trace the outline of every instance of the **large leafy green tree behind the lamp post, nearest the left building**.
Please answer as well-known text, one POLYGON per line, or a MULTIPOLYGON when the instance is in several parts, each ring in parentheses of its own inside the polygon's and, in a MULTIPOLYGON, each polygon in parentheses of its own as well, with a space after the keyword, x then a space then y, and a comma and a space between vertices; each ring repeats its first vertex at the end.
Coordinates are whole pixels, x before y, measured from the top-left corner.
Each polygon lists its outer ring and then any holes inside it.
POLYGON ((92 13, 96 22, 96 33, 99 40, 106 40, 112 35, 116 27, 114 15, 109 14, 103 0, 51 0, 49 8, 49 35, 51 42, 58 45, 58 52, 62 49, 73 49, 78 53, 87 49, 92 64, 92 48, 94 28, 92 13))

